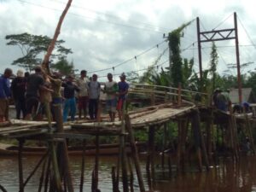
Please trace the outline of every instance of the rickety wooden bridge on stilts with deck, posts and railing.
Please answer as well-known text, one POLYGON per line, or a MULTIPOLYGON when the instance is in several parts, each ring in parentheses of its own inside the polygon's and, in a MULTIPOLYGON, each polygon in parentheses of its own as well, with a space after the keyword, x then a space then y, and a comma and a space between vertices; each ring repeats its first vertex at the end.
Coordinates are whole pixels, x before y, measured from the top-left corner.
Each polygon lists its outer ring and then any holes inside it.
MULTIPOLYGON (((136 137, 134 132, 143 130, 148 133, 148 190, 153 191, 152 181, 154 180, 154 133, 155 131, 163 132, 163 147, 161 149, 161 164, 164 169, 166 165, 169 172, 172 172, 171 158, 173 154, 176 156, 177 171, 184 169, 187 152, 194 151, 198 160, 198 168, 200 171, 207 170, 210 162, 212 162, 212 152, 217 151, 216 141, 213 141, 213 125, 222 127, 224 137, 230 137, 230 141, 224 143, 230 151, 230 155, 234 160, 238 160, 238 138, 237 138, 237 119, 234 115, 222 113, 210 107, 202 107, 195 105, 193 98, 195 95, 201 97, 201 94, 194 91, 174 89, 165 86, 153 86, 145 84, 132 84, 129 91, 128 101, 148 102, 149 106, 144 108, 131 108, 131 111, 125 113, 124 119, 121 121, 108 122, 107 116, 102 116, 99 122, 90 121, 74 121, 63 125, 61 116, 61 107, 55 106, 56 122, 50 125, 45 121, 22 121, 11 120, 10 125, 0 127, 0 137, 15 138, 19 141, 19 177, 20 192, 26 191, 26 183, 39 166, 44 166, 42 179, 38 185, 38 191, 44 186, 44 191, 71 191, 73 192, 72 171, 69 168, 69 160, 67 153, 66 139, 79 139, 84 141, 83 148, 86 148, 86 138, 88 135, 96 137, 96 154, 95 166, 92 173, 92 191, 100 191, 98 189, 98 164, 100 136, 116 136, 119 138, 119 160, 116 166, 113 166, 113 191, 119 191, 119 180, 122 180, 123 191, 132 191, 132 184, 128 179, 132 170, 127 170, 132 164, 135 167, 137 181, 140 191, 146 191, 145 184, 141 173, 139 155, 137 153, 136 137), (190 100, 190 102, 188 102, 190 100), (175 147, 170 149, 167 147, 167 127, 169 122, 177 124, 177 138, 175 138, 175 147), (205 125, 202 128, 201 125, 205 125), (225 127, 225 128, 224 128, 225 127), (191 134, 189 134, 189 130, 191 134), (225 130, 225 131, 224 131, 225 130), (190 139, 188 139, 190 138, 190 139), (41 140, 47 146, 47 152, 39 160, 38 165, 34 168, 31 175, 24 179, 22 166, 22 151, 26 140, 41 140), (189 147, 188 147, 189 142, 189 147), (132 153, 126 153, 126 146, 129 143, 132 153), (191 150, 191 146, 195 150, 191 150), (169 150, 170 149, 170 150, 169 150), (171 152, 172 153, 171 153, 171 152), (131 160, 127 160, 131 158, 131 160), (47 165, 47 166, 45 166, 47 165), (130 174, 128 174, 130 172, 130 174), (50 177, 50 176, 54 177, 50 177), (121 179, 120 179, 121 178, 121 179)), ((241 120, 241 119, 240 119, 241 120)), ((242 119, 247 124, 247 136, 253 143, 252 119, 246 115, 242 119), (249 128, 248 128, 249 126, 249 128)), ((174 146, 174 145, 173 145, 174 146)), ((253 147, 254 151, 254 147, 253 147)), ((82 168, 80 178, 80 191, 84 186, 84 156, 82 155, 82 168)), ((133 173, 132 173, 133 174, 133 173)), ((0 183, 0 189, 3 188, 0 183)), ((3 188, 4 191, 4 188, 3 188)))

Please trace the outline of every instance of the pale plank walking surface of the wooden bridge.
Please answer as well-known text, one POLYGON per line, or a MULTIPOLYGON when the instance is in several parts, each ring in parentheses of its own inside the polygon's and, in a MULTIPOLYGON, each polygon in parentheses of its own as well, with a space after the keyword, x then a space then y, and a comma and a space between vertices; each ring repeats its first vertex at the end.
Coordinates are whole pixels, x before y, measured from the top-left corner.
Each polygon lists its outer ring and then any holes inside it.
MULTIPOLYGON (((160 125, 170 119, 175 119, 185 113, 190 113, 195 106, 183 104, 181 107, 171 103, 161 104, 148 108, 140 108, 129 113, 131 126, 143 128, 148 125, 160 125)), ((55 123, 53 123, 54 125, 55 123)), ((90 122, 75 121, 64 126, 64 134, 58 137, 79 137, 78 134, 118 135, 121 121, 90 122), (71 133, 77 134, 71 136, 71 133), (70 135, 70 136, 69 136, 70 135)), ((55 131, 55 128, 52 128, 55 131)), ((48 123, 45 121, 11 120, 11 125, 0 128, 0 137, 38 137, 49 133, 48 123)), ((57 135, 56 135, 57 137, 57 135)))

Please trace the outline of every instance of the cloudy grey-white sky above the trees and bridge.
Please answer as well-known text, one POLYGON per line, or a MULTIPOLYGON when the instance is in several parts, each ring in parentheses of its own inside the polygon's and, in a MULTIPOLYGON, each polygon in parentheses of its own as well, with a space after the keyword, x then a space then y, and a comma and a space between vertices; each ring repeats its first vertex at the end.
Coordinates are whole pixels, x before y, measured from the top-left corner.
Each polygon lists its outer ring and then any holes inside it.
MULTIPOLYGON (((6 45, 5 36, 28 32, 53 37, 67 0, 0 0, 0 72, 11 67, 21 56, 17 46, 6 45)), ((73 50, 67 56, 79 71, 119 75, 138 71, 156 63, 157 69, 168 66, 166 38, 177 27, 192 20, 183 32, 183 58, 195 60, 198 72, 198 52, 195 18, 200 18, 201 31, 234 27, 234 12, 238 17, 238 37, 241 64, 256 58, 256 1, 253 0, 73 0, 61 26, 58 39, 65 40, 73 50)), ((236 75, 230 64, 236 63, 235 41, 219 41, 218 72, 236 75)), ((202 44, 203 69, 209 67, 212 43, 202 44)), ((42 55, 42 59, 43 59, 42 55)), ((253 71, 255 63, 241 68, 241 73, 253 71)))

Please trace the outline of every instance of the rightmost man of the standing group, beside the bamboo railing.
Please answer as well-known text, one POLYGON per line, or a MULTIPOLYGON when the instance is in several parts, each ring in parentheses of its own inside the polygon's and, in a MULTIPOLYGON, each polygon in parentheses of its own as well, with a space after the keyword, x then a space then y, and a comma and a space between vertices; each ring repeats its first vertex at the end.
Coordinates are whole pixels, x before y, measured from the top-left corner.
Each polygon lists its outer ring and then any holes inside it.
POLYGON ((128 89, 129 89, 129 84, 127 84, 125 82, 126 76, 125 73, 122 73, 120 76, 120 81, 118 84, 119 87, 119 100, 118 100, 118 104, 117 104, 117 110, 119 113, 119 120, 121 120, 123 118, 123 106, 124 106, 124 102, 126 99, 126 94, 128 93, 128 89))

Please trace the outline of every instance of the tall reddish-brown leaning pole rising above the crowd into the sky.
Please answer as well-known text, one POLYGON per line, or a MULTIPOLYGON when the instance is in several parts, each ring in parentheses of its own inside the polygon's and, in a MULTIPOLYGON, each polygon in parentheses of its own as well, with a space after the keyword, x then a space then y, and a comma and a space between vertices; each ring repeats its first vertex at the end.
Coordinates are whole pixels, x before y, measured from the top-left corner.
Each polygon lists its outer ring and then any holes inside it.
POLYGON ((68 9, 70 8, 71 6, 71 3, 72 3, 73 0, 68 0, 67 2, 67 5, 66 5, 66 8, 63 10, 62 14, 61 14, 61 17, 60 17, 60 20, 58 22, 58 25, 55 29, 55 34, 54 34, 54 37, 52 38, 50 44, 49 44, 49 47, 47 49, 47 52, 46 54, 44 55, 44 61, 42 63, 42 67, 44 67, 46 69, 46 71, 48 73, 50 73, 50 70, 49 70, 49 57, 50 55, 52 54, 52 51, 55 49, 55 42, 59 36, 59 34, 61 33, 61 25, 62 25, 62 22, 65 18, 65 16, 67 15, 67 11, 68 9))

